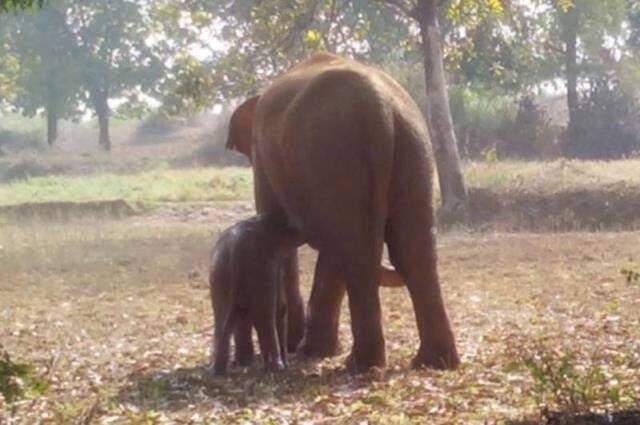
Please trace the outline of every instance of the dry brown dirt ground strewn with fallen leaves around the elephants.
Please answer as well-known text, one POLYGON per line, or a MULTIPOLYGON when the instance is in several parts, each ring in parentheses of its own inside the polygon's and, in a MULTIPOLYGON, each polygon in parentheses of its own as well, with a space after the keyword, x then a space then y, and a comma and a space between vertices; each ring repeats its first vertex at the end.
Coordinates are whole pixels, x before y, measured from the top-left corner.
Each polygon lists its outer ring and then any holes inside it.
MULTIPOLYGON (((544 409, 640 405, 640 283, 621 273, 640 269, 637 231, 441 234, 458 371, 409 369, 412 307, 389 288, 385 371, 344 371, 344 303, 343 355, 294 358, 277 376, 257 358, 213 379, 208 255, 252 211, 231 202, 0 227, 0 343, 50 382, 13 413, 0 401, 0 423, 526 424, 544 423, 544 409)), ((300 258, 307 294, 316 257, 300 258)))

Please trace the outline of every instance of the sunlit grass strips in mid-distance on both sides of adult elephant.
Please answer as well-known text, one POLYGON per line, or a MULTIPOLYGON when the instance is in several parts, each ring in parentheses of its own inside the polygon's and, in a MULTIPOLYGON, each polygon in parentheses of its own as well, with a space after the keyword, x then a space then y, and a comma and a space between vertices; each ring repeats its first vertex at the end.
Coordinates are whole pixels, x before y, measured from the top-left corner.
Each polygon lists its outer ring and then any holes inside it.
MULTIPOLYGON (((624 161, 470 162, 465 178, 471 188, 538 193, 607 186, 640 188, 640 159, 624 161)), ((34 177, 0 185, 0 205, 23 202, 124 199, 131 203, 248 200, 247 167, 158 169, 138 174, 34 177)))

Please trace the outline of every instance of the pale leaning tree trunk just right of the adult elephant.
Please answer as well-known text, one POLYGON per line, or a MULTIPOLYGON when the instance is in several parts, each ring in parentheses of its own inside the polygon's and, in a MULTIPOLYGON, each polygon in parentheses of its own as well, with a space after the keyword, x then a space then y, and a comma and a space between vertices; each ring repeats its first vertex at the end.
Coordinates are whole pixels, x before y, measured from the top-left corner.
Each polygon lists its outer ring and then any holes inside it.
POLYGON ((415 13, 422 37, 427 119, 440 181, 442 218, 447 222, 461 221, 467 210, 467 189, 449 109, 436 0, 419 0, 415 13))

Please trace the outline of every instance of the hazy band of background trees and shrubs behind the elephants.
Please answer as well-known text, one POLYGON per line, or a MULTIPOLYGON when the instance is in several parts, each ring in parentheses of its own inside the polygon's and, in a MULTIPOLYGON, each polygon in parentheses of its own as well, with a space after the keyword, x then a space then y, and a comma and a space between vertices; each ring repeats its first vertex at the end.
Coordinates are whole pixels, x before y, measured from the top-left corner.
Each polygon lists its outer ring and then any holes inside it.
MULTIPOLYGON (((10 7, 11 2, 9 2, 10 7)), ((0 149, 34 132, 7 111, 59 120, 150 109, 191 116, 233 104, 309 54, 328 50, 387 69, 427 106, 410 2, 46 3, 0 17, 0 149), (116 24, 117 22, 117 24, 116 24), (17 134, 16 134, 17 133, 17 134)), ((463 156, 611 159, 639 149, 640 9, 628 0, 455 0, 439 9, 450 106, 463 156)), ((158 115, 160 114, 160 115, 158 115)), ((42 127, 42 124, 40 124, 42 127)))

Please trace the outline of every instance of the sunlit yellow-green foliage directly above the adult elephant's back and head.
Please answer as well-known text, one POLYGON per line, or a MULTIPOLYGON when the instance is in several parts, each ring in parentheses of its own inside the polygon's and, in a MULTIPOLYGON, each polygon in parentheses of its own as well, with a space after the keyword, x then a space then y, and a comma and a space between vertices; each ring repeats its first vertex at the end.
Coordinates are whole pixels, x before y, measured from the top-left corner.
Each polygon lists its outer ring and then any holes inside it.
POLYGON ((189 55, 176 61, 172 70, 176 78, 167 82, 164 98, 173 113, 245 97, 318 51, 378 64, 415 57, 415 23, 384 2, 270 0, 228 5, 184 0, 181 9, 189 10, 190 19, 198 23, 207 22, 203 17, 213 22, 215 16, 213 26, 222 46, 209 47, 205 61, 189 55))

